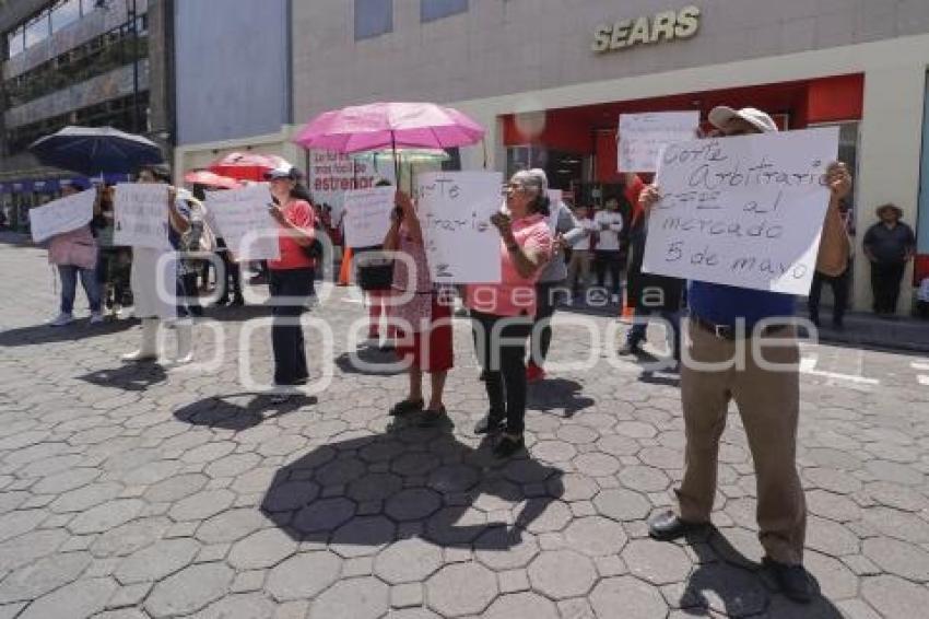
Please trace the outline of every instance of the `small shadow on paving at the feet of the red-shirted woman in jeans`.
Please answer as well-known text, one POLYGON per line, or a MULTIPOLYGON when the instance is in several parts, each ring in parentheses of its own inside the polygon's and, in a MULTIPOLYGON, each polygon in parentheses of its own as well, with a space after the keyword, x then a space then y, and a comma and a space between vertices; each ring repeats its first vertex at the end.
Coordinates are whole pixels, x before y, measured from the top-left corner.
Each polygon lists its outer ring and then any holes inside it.
POLYGON ((297 395, 283 404, 274 404, 267 395, 230 394, 204 398, 183 406, 174 411, 174 417, 178 421, 191 425, 207 425, 238 432, 255 428, 269 419, 294 412, 305 406, 313 406, 316 401, 315 397, 297 395), (251 399, 244 406, 232 401, 248 397, 251 399))

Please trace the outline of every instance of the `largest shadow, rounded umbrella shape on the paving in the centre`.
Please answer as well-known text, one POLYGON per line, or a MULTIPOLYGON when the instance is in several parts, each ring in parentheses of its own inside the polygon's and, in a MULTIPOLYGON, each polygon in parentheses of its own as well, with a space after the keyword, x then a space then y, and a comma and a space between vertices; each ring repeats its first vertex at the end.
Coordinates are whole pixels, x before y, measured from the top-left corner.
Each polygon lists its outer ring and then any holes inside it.
POLYGON ((520 544, 563 493, 560 469, 525 455, 496 460, 489 442, 466 445, 450 423, 423 429, 403 420, 283 467, 261 511, 293 539, 346 557, 411 537, 493 551, 520 544))

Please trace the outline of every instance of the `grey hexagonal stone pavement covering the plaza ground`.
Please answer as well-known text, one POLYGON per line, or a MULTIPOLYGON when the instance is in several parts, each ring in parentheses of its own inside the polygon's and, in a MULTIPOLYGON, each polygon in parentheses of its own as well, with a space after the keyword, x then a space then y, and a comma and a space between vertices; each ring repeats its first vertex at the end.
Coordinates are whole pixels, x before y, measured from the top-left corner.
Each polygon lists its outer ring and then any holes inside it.
MULTIPOLYGON (((310 314, 338 327, 329 347, 318 329, 307 341, 314 377, 334 360, 331 384, 275 408, 239 381, 240 370, 268 379, 267 331, 243 334, 263 307, 212 312, 197 328, 205 364, 122 365, 138 324, 42 326, 56 308, 43 253, 0 245, 0 618, 903 618, 929 608, 925 360, 804 347, 805 561, 822 592, 804 608, 759 568, 736 414, 718 532, 691 545, 647 538, 644 518, 670 503, 681 475, 672 375, 602 357, 554 371, 530 388, 532 458, 499 465, 470 431, 485 399, 463 322, 447 397, 455 428, 391 427, 385 411, 404 377, 384 355, 366 353, 376 374, 349 359, 342 331, 362 308, 344 290, 310 314), (226 334, 223 349, 211 327, 226 334)), ((587 357, 592 336, 560 315, 553 361, 587 357)), ((613 320, 591 320, 615 342, 613 320)))

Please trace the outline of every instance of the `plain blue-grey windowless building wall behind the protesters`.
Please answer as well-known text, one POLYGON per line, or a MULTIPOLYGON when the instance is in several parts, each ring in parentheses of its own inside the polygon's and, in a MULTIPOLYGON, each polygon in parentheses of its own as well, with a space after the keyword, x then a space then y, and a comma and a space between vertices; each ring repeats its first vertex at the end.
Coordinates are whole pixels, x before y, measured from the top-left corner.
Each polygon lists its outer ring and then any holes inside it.
POLYGON ((296 160, 291 5, 290 0, 176 2, 177 171, 207 167, 233 151, 296 160))

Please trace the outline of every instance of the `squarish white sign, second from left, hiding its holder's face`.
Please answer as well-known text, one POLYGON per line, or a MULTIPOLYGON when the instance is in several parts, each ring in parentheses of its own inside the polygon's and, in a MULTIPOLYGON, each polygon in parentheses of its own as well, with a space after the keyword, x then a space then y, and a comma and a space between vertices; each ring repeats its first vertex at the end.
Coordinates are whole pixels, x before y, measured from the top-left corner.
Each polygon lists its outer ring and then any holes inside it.
POLYGON ((122 183, 113 200, 115 245, 166 249, 167 185, 122 183))

